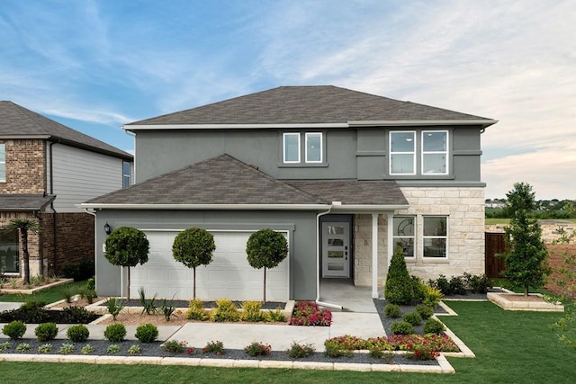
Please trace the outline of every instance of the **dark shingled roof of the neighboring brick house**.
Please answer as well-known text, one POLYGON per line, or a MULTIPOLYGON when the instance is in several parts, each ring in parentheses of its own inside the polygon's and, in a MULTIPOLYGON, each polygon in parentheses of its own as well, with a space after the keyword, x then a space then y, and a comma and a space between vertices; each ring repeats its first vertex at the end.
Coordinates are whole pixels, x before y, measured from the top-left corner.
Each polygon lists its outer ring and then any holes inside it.
POLYGON ((117 147, 7 101, 0 101, 0 138, 44 138, 127 160, 133 158, 117 147))

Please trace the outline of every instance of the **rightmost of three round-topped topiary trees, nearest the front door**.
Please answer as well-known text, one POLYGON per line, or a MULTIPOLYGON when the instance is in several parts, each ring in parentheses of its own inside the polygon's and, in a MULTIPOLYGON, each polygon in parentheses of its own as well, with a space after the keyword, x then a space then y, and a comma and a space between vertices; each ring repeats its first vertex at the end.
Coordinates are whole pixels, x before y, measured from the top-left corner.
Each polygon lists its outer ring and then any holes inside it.
POLYGON ((288 255, 286 237, 272 229, 254 232, 248 238, 246 255, 252 268, 264 267, 264 302, 266 303, 266 268, 275 268, 288 255))

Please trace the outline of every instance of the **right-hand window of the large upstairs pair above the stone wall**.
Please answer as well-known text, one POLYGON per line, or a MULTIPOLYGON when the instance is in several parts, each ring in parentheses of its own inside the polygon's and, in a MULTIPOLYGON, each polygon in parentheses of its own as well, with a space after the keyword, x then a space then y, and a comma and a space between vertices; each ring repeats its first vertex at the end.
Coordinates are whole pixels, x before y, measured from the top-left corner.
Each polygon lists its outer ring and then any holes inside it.
POLYGON ((422 174, 448 173, 448 132, 422 131, 422 174))

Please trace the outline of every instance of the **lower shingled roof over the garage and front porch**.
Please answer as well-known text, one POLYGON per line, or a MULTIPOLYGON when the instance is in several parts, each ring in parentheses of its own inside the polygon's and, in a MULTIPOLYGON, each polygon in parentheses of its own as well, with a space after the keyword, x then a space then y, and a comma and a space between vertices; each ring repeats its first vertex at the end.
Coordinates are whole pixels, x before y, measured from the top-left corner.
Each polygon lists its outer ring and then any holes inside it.
MULTIPOLYGON (((284 182, 229 155, 189 165, 82 204, 85 208, 135 206, 408 205, 393 181, 284 182)), ((278 207, 281 209, 281 207, 278 207)))

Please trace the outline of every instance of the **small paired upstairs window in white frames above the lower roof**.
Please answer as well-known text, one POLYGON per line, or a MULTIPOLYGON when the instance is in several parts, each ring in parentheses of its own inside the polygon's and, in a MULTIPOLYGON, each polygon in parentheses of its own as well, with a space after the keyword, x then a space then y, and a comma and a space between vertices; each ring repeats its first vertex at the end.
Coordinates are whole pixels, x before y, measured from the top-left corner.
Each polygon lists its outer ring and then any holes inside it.
POLYGON ((282 141, 284 164, 324 163, 324 137, 322 132, 284 132, 282 141))

